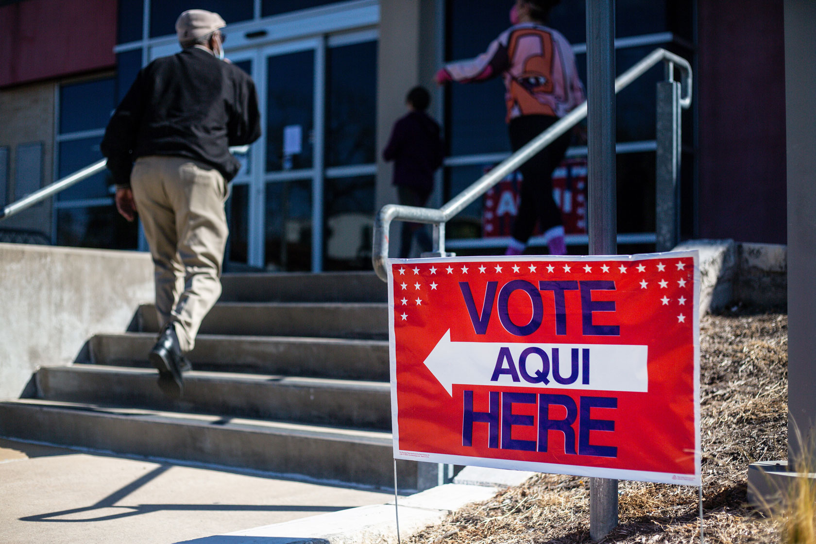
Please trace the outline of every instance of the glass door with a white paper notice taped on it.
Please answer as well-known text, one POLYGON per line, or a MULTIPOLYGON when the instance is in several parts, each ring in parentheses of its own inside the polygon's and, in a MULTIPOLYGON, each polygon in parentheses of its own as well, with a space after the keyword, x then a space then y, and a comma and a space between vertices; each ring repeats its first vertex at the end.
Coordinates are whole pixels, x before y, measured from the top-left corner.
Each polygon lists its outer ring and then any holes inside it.
POLYGON ((322 269, 322 39, 263 51, 263 266, 275 271, 322 269))

